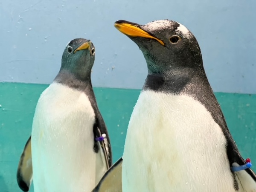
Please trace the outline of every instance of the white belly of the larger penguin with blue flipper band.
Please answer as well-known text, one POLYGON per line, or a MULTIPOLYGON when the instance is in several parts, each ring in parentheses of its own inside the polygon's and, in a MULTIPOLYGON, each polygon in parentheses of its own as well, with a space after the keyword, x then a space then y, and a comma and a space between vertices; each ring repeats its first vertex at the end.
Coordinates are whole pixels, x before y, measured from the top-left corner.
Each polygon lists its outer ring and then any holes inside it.
POLYGON ((234 192, 219 125, 188 96, 143 91, 128 125, 123 192, 234 192))

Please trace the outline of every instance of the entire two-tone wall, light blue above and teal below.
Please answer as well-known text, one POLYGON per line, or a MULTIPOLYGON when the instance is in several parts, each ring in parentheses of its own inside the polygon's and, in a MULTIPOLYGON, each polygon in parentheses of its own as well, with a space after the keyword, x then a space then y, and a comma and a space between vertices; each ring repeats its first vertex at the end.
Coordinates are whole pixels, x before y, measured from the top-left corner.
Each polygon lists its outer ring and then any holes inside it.
POLYGON ((20 2, 0 0, 0 81, 33 84, 0 83, 0 192, 20 191, 15 174, 35 105, 58 73, 64 47, 73 38, 88 38, 96 46, 94 87, 128 88, 94 88, 113 161, 122 155, 140 91, 133 89, 141 89, 147 70, 137 45, 114 28, 119 19, 145 24, 168 18, 194 33, 230 132, 242 156, 255 162, 256 95, 231 94, 256 93, 255 0, 20 2))

